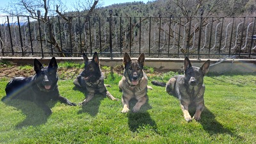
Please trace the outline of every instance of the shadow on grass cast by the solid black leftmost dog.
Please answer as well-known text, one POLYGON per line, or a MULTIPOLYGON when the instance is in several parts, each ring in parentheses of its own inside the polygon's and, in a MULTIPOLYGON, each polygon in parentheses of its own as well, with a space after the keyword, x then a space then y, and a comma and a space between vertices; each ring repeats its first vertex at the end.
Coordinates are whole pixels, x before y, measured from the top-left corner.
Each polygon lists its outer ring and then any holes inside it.
MULTIPOLYGON (((12 106, 17 110, 21 110, 22 113, 26 116, 26 118, 22 120, 22 122, 19 122, 19 124, 16 125, 18 129, 29 125, 36 126, 45 124, 48 117, 51 115, 45 115, 45 112, 42 108, 38 107, 35 102, 31 102, 28 100, 3 98, 1 99, 1 101, 8 106, 12 106)), ((52 108, 54 106, 54 103, 56 102, 49 102, 49 104, 47 103, 47 106, 49 106, 49 108, 52 108)))

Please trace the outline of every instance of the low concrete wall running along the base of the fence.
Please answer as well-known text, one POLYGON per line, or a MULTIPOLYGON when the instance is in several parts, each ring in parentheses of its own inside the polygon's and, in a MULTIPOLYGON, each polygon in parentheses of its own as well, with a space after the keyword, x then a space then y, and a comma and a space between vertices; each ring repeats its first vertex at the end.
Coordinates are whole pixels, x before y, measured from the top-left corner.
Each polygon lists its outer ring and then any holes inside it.
MULTIPOLYGON (((2 57, 1 61, 10 61, 15 65, 33 65, 33 60, 35 57, 2 57)), ((42 63, 47 65, 51 58, 37 58, 42 63)), ((132 60, 137 60, 138 58, 132 58, 132 60)), ((56 58, 58 62, 60 61, 73 61, 76 63, 83 63, 83 58, 56 58)), ((196 60, 190 59, 193 66, 200 67, 207 59, 196 60)), ((256 60, 255 59, 228 59, 221 63, 219 60, 211 59, 210 72, 256 72, 256 60)), ((184 59, 182 58, 146 58, 146 63, 148 67, 162 68, 168 70, 181 70, 184 59)), ((115 67, 116 65, 122 65, 122 58, 100 58, 100 65, 106 65, 109 67, 115 67)))

